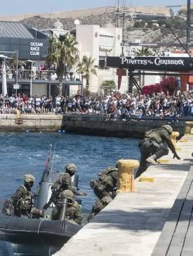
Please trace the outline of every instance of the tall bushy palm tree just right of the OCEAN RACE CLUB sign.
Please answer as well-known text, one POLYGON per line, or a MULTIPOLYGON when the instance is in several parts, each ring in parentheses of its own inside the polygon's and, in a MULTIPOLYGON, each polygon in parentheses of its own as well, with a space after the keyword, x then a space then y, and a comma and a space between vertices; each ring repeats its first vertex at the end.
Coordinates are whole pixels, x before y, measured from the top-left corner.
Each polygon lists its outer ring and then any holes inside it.
POLYGON ((49 53, 46 58, 47 63, 56 63, 56 73, 59 78, 58 95, 62 95, 62 80, 66 68, 72 68, 78 58, 77 41, 69 33, 60 35, 59 39, 50 39, 49 53))

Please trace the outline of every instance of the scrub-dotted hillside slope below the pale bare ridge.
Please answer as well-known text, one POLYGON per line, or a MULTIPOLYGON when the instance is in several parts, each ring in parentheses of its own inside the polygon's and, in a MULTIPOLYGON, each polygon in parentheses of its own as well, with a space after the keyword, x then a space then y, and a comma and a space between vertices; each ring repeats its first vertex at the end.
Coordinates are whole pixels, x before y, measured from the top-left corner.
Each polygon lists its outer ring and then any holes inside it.
MULTIPOLYGON (((105 26, 107 24, 115 24, 116 17, 113 13, 101 13, 101 14, 92 14, 87 16, 78 17, 80 24, 92 24, 92 25, 100 25, 105 26)), ((174 18, 173 18, 174 19, 174 18)), ((180 37, 182 43, 185 43, 185 20, 180 19, 178 24, 173 23, 173 19, 168 20, 167 23, 170 24, 175 34, 180 37), (182 30, 184 32, 182 32, 182 30)), ((43 18, 39 15, 35 15, 34 17, 25 18, 22 20, 23 23, 27 23, 28 25, 35 27, 38 30, 44 30, 47 28, 53 28, 53 23, 56 20, 60 20, 65 30, 72 30, 74 28, 74 18, 43 18)), ((122 21, 119 20, 120 25, 122 21)), ((134 22, 128 16, 126 18, 126 29, 125 29, 125 37, 129 39, 129 41, 134 41, 135 37, 140 37, 142 42, 146 43, 157 43, 162 41, 163 43, 178 43, 173 34, 166 29, 166 27, 157 27, 156 25, 149 25, 142 23, 139 27, 136 25, 138 22, 134 22)))

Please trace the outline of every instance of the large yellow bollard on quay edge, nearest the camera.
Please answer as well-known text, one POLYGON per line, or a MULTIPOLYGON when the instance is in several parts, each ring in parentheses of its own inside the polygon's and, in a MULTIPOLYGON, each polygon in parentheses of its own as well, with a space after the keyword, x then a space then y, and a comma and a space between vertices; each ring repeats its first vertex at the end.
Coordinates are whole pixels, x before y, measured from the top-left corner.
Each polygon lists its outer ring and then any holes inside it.
POLYGON ((134 169, 139 165, 137 160, 118 161, 117 192, 134 191, 134 169))

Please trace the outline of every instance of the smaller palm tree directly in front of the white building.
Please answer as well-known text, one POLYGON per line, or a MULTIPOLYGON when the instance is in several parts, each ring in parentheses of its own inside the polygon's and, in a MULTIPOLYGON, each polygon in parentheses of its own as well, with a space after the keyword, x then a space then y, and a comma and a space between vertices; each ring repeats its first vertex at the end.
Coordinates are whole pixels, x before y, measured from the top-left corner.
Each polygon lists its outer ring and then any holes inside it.
POLYGON ((81 73, 81 75, 86 77, 86 87, 89 87, 89 78, 90 74, 97 75, 97 72, 94 67, 95 60, 91 59, 91 57, 83 56, 82 61, 79 61, 77 65, 77 72, 81 73))

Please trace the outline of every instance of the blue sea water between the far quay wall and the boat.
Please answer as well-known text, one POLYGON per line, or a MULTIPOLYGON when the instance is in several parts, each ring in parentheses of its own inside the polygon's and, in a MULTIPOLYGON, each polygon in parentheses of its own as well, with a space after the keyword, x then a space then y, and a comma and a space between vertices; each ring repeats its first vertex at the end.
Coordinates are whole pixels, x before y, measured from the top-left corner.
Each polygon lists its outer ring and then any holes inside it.
MULTIPOLYGON (((53 170, 64 172, 64 166, 73 162, 78 167, 79 191, 86 191, 82 212, 88 213, 95 203, 89 185, 98 179, 98 172, 114 166, 120 158, 139 160, 138 139, 102 136, 84 136, 67 133, 0 132, 0 198, 10 197, 20 186, 25 174, 35 177, 34 190, 45 169, 49 145, 55 149, 53 170)), ((1 244, 0 244, 0 255, 1 244)))

